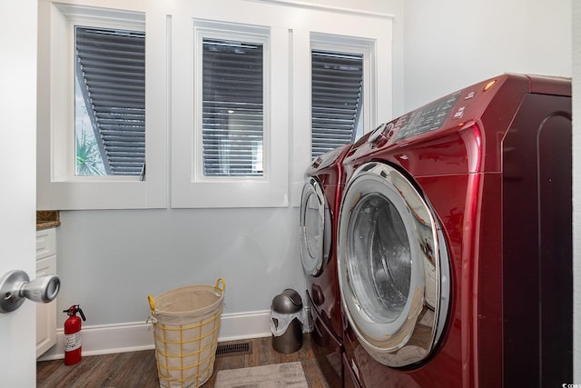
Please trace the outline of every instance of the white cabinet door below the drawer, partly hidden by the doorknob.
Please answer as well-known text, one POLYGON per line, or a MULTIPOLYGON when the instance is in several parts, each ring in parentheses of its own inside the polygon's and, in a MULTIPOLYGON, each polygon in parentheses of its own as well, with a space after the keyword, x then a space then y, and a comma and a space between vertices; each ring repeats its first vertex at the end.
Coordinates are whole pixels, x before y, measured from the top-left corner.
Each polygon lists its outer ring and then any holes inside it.
MULTIPOLYGON (((36 261, 36 277, 56 274, 56 256, 36 261)), ((56 300, 51 303, 36 303, 36 357, 56 343, 56 300)))

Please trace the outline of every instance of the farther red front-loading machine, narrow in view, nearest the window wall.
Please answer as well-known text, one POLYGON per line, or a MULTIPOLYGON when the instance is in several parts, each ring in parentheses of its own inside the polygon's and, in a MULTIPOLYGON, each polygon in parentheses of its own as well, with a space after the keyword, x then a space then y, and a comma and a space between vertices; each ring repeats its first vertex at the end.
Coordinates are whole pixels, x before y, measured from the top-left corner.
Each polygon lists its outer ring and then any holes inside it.
POLYGON ((345 184, 341 162, 351 145, 313 160, 305 173, 300 204, 300 257, 313 321, 311 336, 320 369, 333 387, 343 380, 336 235, 345 184))

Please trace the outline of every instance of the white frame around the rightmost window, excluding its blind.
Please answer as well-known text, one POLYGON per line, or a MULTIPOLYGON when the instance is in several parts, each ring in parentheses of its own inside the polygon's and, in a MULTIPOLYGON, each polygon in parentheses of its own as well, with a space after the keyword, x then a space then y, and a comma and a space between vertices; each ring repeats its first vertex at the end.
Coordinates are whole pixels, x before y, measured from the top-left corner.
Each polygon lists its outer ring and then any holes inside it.
POLYGON ((391 15, 321 15, 320 23, 292 34, 292 174, 291 205, 300 206, 304 172, 311 149, 311 51, 324 49, 363 55, 363 133, 389 120, 393 113, 391 15), (304 104, 308 101, 309 104, 304 104))

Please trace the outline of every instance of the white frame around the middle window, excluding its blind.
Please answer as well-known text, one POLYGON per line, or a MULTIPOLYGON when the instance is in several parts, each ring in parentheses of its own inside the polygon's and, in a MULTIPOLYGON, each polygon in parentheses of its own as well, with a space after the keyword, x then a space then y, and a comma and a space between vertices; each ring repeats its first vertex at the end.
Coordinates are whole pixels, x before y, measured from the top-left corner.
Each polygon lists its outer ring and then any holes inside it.
MULTIPOLYGON (((243 15, 243 14, 242 14, 243 15)), ((268 24, 172 17, 172 207, 288 206, 289 38, 268 24), (175 37, 178 38, 175 38, 175 37), (261 43, 264 55, 263 174, 204 176, 202 38, 261 43)))

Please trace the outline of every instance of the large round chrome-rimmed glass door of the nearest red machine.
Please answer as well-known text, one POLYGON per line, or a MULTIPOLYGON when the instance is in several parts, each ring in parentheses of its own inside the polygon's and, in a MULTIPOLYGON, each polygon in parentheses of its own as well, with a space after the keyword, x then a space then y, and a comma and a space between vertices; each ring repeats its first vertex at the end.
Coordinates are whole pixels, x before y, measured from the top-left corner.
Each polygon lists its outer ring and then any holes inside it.
POLYGON ((448 313, 448 251, 426 200, 388 164, 359 167, 343 196, 341 303, 359 342, 379 363, 420 363, 448 313))

